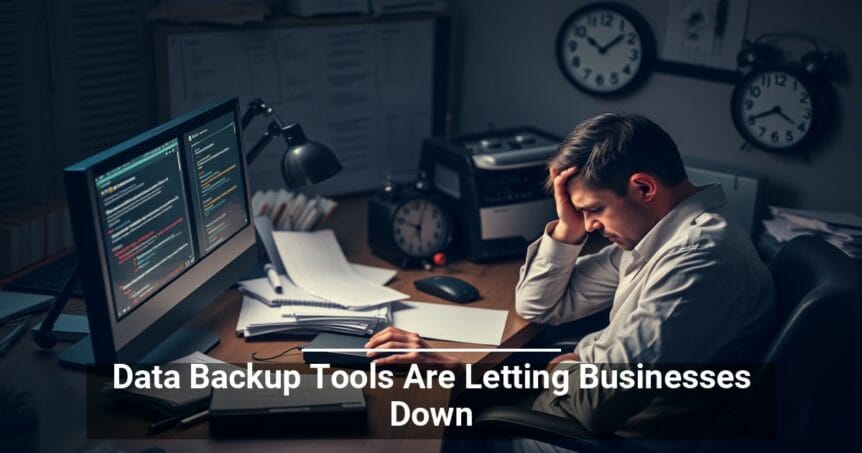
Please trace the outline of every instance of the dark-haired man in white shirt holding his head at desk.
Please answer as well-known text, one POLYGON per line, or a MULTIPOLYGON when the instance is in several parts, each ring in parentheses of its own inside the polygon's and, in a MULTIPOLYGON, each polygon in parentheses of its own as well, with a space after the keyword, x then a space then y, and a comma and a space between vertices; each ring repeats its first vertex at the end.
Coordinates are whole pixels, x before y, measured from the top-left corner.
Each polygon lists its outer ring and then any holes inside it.
MULTIPOLYGON (((530 321, 556 325, 610 307, 606 328, 552 362, 569 368, 574 386, 579 367, 567 362, 634 367, 757 359, 775 314, 769 272, 727 214, 720 186, 688 181, 664 130, 638 115, 599 115, 569 134, 548 167, 558 219, 527 249, 515 308, 530 321), (590 232, 613 244, 580 256, 590 232)), ((411 335, 390 329, 369 345, 424 344, 411 335)), ((383 360, 453 359, 414 353, 383 360)), ((534 408, 577 418, 594 432, 694 433, 703 424, 694 426, 690 416, 706 407, 681 395, 573 388, 562 398, 545 392, 534 408)))

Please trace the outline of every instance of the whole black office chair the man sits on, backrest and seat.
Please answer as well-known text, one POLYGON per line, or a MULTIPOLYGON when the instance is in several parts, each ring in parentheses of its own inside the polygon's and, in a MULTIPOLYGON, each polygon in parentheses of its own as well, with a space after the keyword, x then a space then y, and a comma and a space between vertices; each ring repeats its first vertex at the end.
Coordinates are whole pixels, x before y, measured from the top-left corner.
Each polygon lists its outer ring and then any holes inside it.
MULTIPOLYGON (((752 386, 698 451, 738 446, 741 439, 835 442, 849 436, 860 401, 858 332, 862 277, 844 253, 814 236, 785 245, 770 265, 779 328, 752 386), (769 433, 764 435, 763 433, 769 433), (722 440, 724 439, 724 440, 722 440)), ((526 437, 580 452, 642 451, 636 441, 591 433, 577 420, 526 407, 493 407, 474 424, 487 437, 526 437)))

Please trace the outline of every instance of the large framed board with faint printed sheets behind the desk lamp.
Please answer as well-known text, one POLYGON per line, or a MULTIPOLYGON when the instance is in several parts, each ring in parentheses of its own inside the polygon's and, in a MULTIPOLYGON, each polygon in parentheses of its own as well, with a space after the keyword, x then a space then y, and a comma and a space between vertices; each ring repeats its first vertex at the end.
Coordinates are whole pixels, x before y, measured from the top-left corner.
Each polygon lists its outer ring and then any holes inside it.
MULTIPOLYGON (((286 18, 239 29, 161 24, 155 33, 162 119, 216 96, 239 96, 243 106, 259 97, 341 161, 344 170, 310 192, 415 179, 422 139, 450 132, 448 15, 286 18)), ((246 149, 266 123, 244 131, 246 149)), ((249 166, 253 191, 283 187, 281 156, 267 149, 249 166)))

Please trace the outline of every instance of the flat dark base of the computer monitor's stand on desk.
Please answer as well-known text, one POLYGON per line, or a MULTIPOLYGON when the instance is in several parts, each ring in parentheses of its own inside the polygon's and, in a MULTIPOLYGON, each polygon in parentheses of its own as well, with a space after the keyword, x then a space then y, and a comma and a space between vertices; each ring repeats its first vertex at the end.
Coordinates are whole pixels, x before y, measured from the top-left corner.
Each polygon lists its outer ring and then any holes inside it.
MULTIPOLYGON (((193 352, 207 352, 219 342, 215 332, 181 327, 140 360, 140 363, 159 364, 176 360, 193 352)), ((57 355, 60 365, 67 368, 86 368, 95 363, 90 336, 66 348, 57 355)))

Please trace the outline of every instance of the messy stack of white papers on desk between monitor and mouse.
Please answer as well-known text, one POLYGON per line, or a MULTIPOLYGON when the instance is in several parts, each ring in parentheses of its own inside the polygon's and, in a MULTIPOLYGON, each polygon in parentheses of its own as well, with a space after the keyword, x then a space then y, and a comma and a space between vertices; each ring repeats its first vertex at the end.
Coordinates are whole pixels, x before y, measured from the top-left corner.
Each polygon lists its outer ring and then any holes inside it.
POLYGON ((389 302, 406 294, 383 285, 395 271, 348 263, 332 231, 273 233, 281 292, 267 278, 239 282, 245 295, 236 331, 370 334, 391 324, 389 302))

